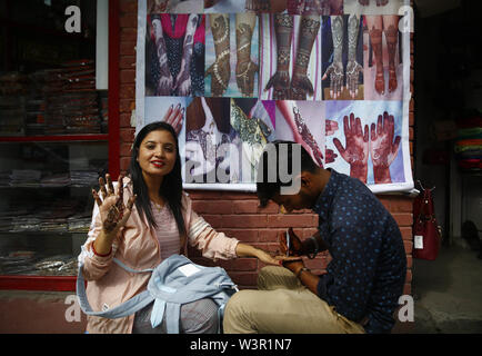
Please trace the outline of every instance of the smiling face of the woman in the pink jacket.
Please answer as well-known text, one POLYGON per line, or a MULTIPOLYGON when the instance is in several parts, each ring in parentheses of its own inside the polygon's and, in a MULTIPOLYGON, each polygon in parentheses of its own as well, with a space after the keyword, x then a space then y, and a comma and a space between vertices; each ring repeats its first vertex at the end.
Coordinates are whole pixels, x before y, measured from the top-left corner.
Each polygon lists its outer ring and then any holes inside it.
POLYGON ((144 176, 169 175, 174 167, 175 159, 175 140, 169 131, 151 131, 139 146, 137 160, 144 176))

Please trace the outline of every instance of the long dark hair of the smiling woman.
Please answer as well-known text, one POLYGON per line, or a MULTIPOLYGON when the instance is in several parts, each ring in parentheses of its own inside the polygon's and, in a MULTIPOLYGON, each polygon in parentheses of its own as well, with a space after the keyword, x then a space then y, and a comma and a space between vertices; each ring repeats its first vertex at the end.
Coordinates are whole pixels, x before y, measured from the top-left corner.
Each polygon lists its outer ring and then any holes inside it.
POLYGON ((172 135, 175 141, 175 162, 169 175, 162 179, 161 187, 159 189, 159 196, 167 200, 174 216, 175 224, 181 239, 187 236, 185 224, 182 216, 182 176, 181 176, 181 157, 179 155, 178 136, 167 122, 155 121, 144 126, 135 137, 134 145, 132 147, 131 162, 129 172, 132 179, 133 192, 138 196, 135 198, 135 207, 139 210, 139 215, 145 215, 149 224, 157 227, 155 220, 152 216, 151 199, 149 198, 148 186, 142 176, 142 169, 137 160, 139 156, 139 147, 142 140, 152 131, 164 130, 172 135))

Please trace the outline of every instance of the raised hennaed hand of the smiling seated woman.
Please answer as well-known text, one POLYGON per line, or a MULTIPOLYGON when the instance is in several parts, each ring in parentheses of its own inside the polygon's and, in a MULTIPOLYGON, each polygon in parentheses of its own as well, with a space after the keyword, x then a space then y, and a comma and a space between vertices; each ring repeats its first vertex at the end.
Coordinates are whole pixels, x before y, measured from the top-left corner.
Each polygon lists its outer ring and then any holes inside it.
POLYGON ((99 206, 99 214, 102 221, 102 229, 108 235, 116 235, 120 228, 122 228, 129 219, 132 210, 132 206, 135 201, 135 195, 129 198, 127 206, 123 201, 123 176, 119 176, 119 185, 114 189, 110 175, 106 175, 106 180, 100 177, 100 192, 92 189, 92 196, 99 206), (107 184, 106 184, 107 181, 107 184))

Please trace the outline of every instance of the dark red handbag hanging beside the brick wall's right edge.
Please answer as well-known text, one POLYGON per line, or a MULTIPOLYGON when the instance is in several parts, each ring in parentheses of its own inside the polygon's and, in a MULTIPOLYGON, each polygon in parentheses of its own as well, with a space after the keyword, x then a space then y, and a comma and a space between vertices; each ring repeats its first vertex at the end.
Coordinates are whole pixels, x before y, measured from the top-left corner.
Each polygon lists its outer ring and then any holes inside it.
POLYGON ((442 243, 433 208, 432 190, 435 187, 425 189, 420 186, 422 190, 413 201, 413 257, 434 260, 442 243))

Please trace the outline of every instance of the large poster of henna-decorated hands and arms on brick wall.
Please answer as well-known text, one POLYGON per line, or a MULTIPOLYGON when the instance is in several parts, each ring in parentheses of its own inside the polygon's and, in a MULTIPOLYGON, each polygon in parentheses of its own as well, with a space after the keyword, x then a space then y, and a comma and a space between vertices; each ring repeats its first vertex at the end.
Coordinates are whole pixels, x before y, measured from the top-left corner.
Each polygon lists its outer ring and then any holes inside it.
POLYGON ((139 0, 137 132, 174 127, 187 189, 255 191, 263 148, 285 139, 410 191, 409 3, 139 0))

